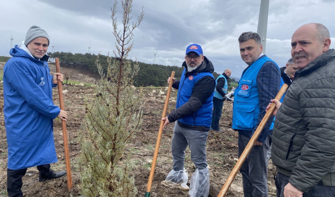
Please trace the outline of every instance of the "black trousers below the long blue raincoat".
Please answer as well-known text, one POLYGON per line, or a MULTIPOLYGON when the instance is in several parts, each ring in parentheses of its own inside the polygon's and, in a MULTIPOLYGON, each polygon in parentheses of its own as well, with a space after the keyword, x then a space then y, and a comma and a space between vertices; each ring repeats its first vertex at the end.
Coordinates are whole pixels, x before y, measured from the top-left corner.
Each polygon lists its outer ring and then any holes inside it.
MULTIPOLYGON (((49 175, 52 170, 50 169, 50 164, 37 166, 39 170, 39 177, 44 177, 49 175)), ((22 177, 25 175, 27 168, 19 170, 11 170, 7 168, 7 192, 8 197, 23 197, 21 191, 22 187, 22 177)))

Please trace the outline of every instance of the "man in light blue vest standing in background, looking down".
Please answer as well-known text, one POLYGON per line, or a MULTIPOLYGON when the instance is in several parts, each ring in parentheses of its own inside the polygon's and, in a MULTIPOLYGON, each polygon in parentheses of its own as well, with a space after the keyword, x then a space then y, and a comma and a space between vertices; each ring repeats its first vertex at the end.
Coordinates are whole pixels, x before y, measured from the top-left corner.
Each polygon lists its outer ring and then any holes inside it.
POLYGON ((227 79, 229 79, 231 75, 231 70, 226 69, 222 73, 222 75, 219 75, 215 81, 216 86, 214 90, 214 97, 213 97, 213 114, 212 114, 212 124, 211 129, 214 131, 221 132, 221 129, 219 127, 219 121, 221 118, 222 113, 222 106, 224 99, 229 99, 229 101, 232 101, 231 98, 225 98, 224 96, 228 92, 228 83, 227 79))

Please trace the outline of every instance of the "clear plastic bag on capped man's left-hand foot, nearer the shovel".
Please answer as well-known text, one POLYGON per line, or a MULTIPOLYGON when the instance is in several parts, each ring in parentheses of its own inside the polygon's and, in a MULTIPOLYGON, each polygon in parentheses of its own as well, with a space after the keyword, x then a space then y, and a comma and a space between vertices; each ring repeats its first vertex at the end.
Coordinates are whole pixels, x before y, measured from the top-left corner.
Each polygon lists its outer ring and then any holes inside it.
POLYGON ((178 185, 177 188, 187 191, 189 190, 189 186, 187 186, 188 181, 188 173, 187 170, 184 168, 184 170, 180 171, 174 171, 171 170, 169 174, 166 176, 165 180, 162 181, 162 184, 167 187, 173 187, 176 188, 176 185, 178 185))

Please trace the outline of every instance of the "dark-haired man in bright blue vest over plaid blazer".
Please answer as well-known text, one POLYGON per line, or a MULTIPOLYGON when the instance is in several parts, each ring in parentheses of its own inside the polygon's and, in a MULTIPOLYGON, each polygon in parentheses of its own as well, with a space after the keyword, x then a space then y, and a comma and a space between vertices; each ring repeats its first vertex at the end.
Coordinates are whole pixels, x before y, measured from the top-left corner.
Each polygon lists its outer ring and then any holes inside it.
MULTIPOLYGON (((281 84, 277 64, 262 53, 257 33, 244 32, 239 37, 241 58, 249 65, 242 73, 234 93, 232 128, 239 132, 239 157, 265 115, 269 101, 277 95, 281 84)), ((267 152, 271 146, 270 117, 240 172, 245 197, 267 197, 267 152)))

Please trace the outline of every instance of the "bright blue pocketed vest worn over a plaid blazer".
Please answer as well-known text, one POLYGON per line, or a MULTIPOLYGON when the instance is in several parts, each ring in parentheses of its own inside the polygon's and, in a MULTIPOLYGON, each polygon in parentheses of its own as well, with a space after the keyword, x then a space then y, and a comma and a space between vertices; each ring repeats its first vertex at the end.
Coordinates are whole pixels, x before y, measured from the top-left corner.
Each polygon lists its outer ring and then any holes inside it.
MULTIPOLYGON (((253 130, 258 121, 259 98, 257 87, 257 74, 265 62, 273 62, 278 70, 278 65, 267 56, 254 62, 242 74, 239 86, 234 93, 232 128, 240 130, 253 130)), ((283 81, 281 80, 280 86, 283 81)), ((273 121, 271 124, 273 128, 273 121)), ((270 127, 270 129, 272 129, 270 127)))

